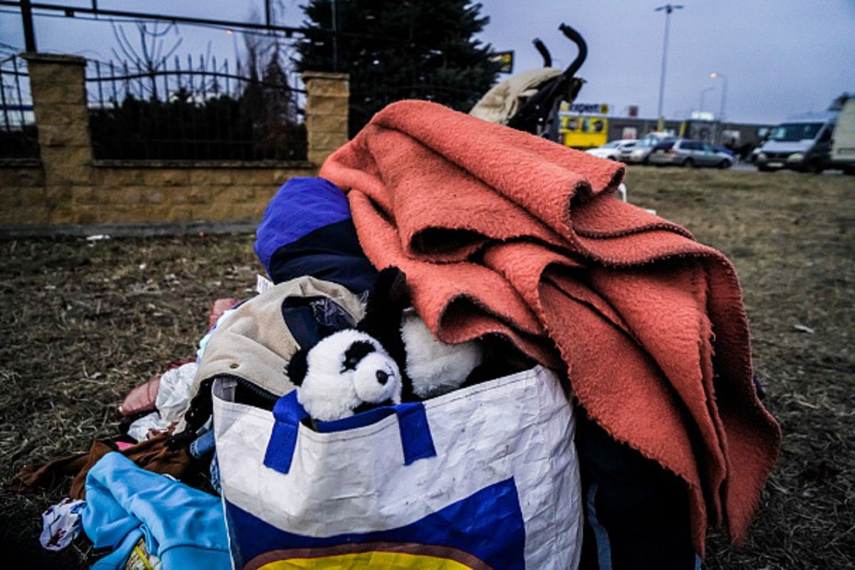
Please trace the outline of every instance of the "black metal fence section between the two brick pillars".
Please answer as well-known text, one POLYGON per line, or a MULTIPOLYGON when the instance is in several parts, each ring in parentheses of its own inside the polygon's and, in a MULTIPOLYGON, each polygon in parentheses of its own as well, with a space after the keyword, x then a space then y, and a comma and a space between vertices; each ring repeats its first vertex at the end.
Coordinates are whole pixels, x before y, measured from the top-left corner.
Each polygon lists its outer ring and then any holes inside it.
POLYGON ((230 69, 215 57, 87 63, 97 159, 304 160, 305 91, 278 65, 230 69))

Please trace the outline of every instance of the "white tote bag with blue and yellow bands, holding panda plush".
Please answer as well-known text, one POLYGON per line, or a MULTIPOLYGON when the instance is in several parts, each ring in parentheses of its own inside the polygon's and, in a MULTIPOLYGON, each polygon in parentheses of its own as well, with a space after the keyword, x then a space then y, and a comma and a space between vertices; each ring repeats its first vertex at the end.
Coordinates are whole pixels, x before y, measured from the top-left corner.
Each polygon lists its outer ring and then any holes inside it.
POLYGON ((573 411, 544 367, 314 431, 214 385, 235 568, 556 568, 579 563, 573 411))

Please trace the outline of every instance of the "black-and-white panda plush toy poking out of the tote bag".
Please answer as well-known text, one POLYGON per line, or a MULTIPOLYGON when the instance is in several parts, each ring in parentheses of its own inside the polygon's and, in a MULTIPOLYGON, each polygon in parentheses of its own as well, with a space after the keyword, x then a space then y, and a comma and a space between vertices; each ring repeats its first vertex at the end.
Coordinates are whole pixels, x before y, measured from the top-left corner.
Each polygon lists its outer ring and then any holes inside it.
POLYGON ((482 360, 476 341, 433 337, 410 308, 404 273, 391 267, 380 272, 363 320, 298 350, 286 375, 306 413, 328 421, 455 390, 482 360))

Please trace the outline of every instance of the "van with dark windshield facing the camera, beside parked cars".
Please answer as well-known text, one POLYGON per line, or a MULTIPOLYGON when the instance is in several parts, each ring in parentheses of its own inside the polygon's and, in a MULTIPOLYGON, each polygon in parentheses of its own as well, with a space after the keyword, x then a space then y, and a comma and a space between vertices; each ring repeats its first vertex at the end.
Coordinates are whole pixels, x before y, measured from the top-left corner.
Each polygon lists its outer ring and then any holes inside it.
POLYGON ((831 167, 831 139, 837 111, 793 115, 775 126, 760 147, 758 170, 768 172, 790 168, 821 173, 831 167))

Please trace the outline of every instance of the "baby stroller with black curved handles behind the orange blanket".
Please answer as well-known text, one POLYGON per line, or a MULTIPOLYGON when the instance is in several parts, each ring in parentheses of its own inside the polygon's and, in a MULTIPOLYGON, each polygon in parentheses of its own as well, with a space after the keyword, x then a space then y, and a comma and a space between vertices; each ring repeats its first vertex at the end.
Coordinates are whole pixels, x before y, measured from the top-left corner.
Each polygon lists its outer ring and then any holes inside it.
POLYGON ((534 47, 543 57, 544 67, 518 73, 494 86, 475 103, 469 115, 560 142, 558 108, 563 101, 573 103, 585 83, 585 79, 575 77, 575 73, 585 62, 587 44, 581 34, 567 24, 561 24, 558 29, 579 50, 567 69, 551 67, 549 50, 536 38, 534 47))

